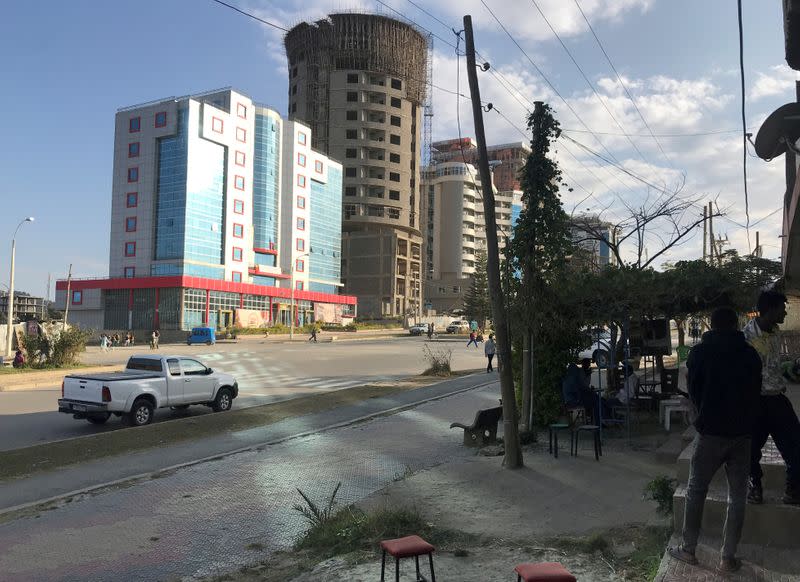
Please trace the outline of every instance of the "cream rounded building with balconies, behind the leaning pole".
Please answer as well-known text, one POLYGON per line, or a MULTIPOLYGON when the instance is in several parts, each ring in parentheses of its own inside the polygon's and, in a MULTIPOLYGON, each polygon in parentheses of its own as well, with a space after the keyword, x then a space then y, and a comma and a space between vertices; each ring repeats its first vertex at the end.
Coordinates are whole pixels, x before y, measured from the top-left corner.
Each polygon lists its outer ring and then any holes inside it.
MULTIPOLYGON (((486 221, 477 169, 444 162, 423 172, 425 303, 437 312, 463 307, 475 273, 476 256, 486 252, 486 221)), ((502 254, 512 236, 514 192, 495 191, 495 220, 502 254)))

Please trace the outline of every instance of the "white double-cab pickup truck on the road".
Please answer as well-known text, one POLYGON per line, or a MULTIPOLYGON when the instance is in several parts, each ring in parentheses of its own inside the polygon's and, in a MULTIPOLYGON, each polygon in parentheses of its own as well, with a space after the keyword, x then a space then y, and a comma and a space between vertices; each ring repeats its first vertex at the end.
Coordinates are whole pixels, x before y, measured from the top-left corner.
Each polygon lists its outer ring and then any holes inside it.
POLYGON ((132 356, 125 370, 110 374, 71 374, 61 384, 58 411, 103 424, 111 415, 132 426, 153 420, 156 408, 185 409, 192 404, 215 412, 230 410, 239 385, 186 356, 132 356))

